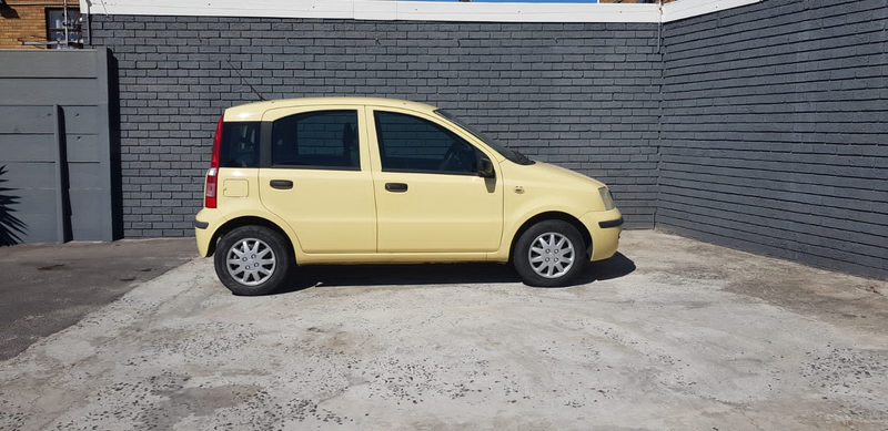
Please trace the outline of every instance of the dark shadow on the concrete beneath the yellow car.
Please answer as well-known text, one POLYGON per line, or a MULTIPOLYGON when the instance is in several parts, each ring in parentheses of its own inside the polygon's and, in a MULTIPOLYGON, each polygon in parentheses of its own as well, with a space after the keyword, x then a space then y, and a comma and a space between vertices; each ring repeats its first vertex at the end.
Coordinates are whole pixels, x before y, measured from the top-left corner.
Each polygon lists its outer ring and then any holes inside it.
MULTIPOLYGON (((635 263, 617 253, 607 260, 587 264, 569 286, 609 280, 632 274, 635 263)), ((511 265, 323 265, 299 268, 287 285, 272 295, 290 294, 310 287, 391 286, 447 284, 521 283, 511 265)))

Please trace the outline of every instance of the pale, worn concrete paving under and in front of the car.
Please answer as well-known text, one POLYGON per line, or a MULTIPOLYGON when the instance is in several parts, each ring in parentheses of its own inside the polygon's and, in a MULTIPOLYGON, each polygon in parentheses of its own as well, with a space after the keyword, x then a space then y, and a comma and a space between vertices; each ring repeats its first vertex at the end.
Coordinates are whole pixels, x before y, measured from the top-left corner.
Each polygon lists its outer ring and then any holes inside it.
POLYGON ((334 267, 259 298, 193 260, 0 362, 0 429, 888 429, 888 283, 620 250, 562 289, 334 267))

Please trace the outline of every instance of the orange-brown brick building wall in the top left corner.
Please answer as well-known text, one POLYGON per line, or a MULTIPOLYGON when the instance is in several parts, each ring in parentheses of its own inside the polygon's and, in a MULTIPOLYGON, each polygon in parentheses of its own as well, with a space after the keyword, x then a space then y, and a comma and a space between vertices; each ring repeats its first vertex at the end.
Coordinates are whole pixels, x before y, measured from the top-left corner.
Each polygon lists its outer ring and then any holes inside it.
MULTIPOLYGON (((61 0, 9 0, 0 8, 0 49, 43 49, 43 45, 22 45, 19 40, 47 40, 47 9, 61 8, 61 0)), ((78 0, 68 1, 78 8, 78 0)))

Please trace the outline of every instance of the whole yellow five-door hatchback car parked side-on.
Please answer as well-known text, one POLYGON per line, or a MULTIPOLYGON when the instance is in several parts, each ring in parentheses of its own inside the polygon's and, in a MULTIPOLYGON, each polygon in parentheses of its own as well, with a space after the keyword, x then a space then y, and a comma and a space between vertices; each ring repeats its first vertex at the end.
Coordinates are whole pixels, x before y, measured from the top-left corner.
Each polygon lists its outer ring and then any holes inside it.
POLYGON ((534 162, 426 104, 323 98, 225 111, 213 141, 201 256, 238 295, 296 265, 512 261, 563 286, 617 250, 604 184, 534 162))

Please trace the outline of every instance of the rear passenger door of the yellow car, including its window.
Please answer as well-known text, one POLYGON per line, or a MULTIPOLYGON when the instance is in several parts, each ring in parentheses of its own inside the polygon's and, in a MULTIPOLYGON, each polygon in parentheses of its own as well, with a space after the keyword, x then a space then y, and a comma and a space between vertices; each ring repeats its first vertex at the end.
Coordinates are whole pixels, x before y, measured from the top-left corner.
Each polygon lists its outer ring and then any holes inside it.
POLYGON ((365 112, 340 105, 270 110, 260 194, 310 254, 376 252, 365 112))

